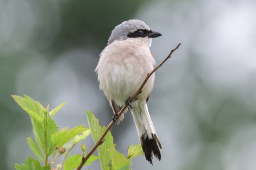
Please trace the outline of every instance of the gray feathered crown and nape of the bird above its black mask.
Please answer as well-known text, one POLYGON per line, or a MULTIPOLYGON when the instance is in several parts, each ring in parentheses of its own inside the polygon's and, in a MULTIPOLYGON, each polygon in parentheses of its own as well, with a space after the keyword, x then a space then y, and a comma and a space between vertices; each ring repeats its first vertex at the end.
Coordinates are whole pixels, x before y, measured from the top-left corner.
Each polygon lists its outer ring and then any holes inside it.
POLYGON ((150 31, 149 26, 147 26, 141 20, 131 19, 128 21, 123 21, 121 24, 117 25, 111 32, 111 35, 108 39, 108 44, 112 43, 115 40, 125 40, 129 38, 127 37, 129 33, 134 33, 135 31, 140 29, 150 31))

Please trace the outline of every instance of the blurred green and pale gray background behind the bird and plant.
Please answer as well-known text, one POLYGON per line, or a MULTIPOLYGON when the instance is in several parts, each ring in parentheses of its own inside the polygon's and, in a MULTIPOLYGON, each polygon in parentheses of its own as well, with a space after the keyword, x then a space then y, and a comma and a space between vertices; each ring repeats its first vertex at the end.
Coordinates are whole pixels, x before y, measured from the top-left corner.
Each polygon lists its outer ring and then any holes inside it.
MULTIPOLYGON (((12 94, 68 102, 54 116, 59 128, 87 126, 85 110, 110 122, 94 69, 113 28, 137 18, 163 34, 151 47, 157 63, 182 45, 156 72, 149 102, 162 160, 140 156, 132 168, 255 170, 255 16, 255 0, 0 0, 0 169, 32 154, 30 119, 12 94)), ((125 155, 139 143, 130 113, 111 131, 125 155)))

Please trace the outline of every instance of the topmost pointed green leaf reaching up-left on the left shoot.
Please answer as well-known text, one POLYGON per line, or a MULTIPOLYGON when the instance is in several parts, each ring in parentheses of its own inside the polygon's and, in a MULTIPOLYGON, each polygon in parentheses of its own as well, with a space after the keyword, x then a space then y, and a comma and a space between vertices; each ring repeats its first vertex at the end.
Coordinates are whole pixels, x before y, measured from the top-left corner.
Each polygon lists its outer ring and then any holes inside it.
POLYGON ((39 102, 26 95, 24 97, 12 95, 12 97, 31 118, 39 122, 43 120, 45 108, 39 102))

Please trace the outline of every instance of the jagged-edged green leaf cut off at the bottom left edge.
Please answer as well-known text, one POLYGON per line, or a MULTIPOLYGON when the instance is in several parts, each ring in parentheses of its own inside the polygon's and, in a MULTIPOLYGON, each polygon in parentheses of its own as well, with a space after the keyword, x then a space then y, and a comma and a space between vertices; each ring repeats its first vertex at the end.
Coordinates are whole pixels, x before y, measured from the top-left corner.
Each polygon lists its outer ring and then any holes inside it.
POLYGON ((51 167, 49 164, 42 167, 38 160, 35 160, 30 156, 25 164, 15 164, 15 170, 51 170, 51 167))

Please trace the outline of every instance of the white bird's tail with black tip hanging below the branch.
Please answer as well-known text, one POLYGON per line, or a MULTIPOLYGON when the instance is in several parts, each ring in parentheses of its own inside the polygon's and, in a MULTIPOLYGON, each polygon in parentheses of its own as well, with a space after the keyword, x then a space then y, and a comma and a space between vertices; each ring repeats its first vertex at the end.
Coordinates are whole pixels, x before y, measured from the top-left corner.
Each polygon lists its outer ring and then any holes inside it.
POLYGON ((143 152, 147 161, 152 164, 153 154, 158 160, 161 159, 159 148, 162 149, 162 146, 150 118, 147 103, 134 107, 131 111, 143 152))

